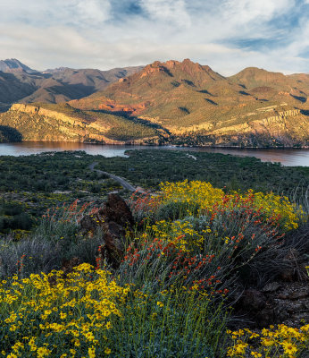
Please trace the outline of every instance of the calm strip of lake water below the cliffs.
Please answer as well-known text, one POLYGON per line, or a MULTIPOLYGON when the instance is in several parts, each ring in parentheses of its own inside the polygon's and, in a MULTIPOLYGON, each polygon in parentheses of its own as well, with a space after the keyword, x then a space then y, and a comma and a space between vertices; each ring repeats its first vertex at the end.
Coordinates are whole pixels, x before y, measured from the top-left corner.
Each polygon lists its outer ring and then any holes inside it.
POLYGON ((280 162, 284 166, 309 166, 309 149, 221 149, 221 148, 180 148, 146 146, 112 146, 84 144, 76 142, 23 141, 0 143, 0 156, 29 156, 45 151, 85 150, 88 154, 101 154, 104 157, 124 157, 128 149, 169 149, 186 151, 205 151, 260 158, 262 161, 280 162))

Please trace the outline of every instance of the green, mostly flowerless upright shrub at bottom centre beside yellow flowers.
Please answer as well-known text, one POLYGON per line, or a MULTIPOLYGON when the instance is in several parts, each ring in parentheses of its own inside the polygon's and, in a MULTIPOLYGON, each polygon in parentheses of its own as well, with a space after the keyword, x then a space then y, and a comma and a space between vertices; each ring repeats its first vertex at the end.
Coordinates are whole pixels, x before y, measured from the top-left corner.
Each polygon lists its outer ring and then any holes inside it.
POLYGON ((145 286, 128 295, 121 313, 106 334, 114 342, 114 357, 214 358, 221 353, 225 312, 196 291, 149 294, 145 286))

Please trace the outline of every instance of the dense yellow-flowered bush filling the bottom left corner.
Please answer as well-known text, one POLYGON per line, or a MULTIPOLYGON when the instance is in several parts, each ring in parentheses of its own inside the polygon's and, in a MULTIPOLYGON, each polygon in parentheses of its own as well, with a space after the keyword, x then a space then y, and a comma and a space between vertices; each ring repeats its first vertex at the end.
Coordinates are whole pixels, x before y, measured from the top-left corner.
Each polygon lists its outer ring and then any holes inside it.
POLYGON ((0 287, 4 356, 111 353, 104 332, 112 328, 113 316, 121 317, 119 305, 125 302, 129 286, 118 286, 106 271, 84 263, 67 277, 63 271, 16 276, 3 280, 0 287))

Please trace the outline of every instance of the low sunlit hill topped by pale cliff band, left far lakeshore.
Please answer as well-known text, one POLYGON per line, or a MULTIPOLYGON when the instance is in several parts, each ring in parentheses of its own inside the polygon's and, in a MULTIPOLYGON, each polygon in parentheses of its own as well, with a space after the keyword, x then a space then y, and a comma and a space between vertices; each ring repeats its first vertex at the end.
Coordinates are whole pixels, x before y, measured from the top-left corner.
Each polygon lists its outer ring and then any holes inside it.
POLYGON ((11 141, 125 144, 156 141, 159 134, 153 125, 113 114, 81 111, 68 104, 15 104, 0 114, 0 128, 3 128, 3 140, 8 137, 8 129, 15 131, 15 136, 11 133, 11 141))

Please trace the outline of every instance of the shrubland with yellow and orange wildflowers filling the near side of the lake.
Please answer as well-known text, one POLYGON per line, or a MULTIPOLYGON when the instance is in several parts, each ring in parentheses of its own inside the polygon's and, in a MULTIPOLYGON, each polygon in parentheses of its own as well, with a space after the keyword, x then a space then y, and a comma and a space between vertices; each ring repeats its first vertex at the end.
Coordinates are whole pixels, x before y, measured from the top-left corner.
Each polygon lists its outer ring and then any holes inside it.
POLYGON ((239 287, 263 286, 286 264, 290 250, 301 252, 299 260, 309 252, 306 169, 251 158, 194 156, 196 160, 183 152, 143 150, 130 152, 129 158, 81 152, 1 158, 15 191, 2 178, 2 193, 21 199, 27 191, 33 207, 42 195, 52 198, 47 183, 53 175, 59 176, 53 189, 70 189, 70 195, 88 185, 88 193, 78 199, 58 197, 43 216, 30 215, 27 200, 1 202, 1 217, 27 214, 35 219, 21 237, 13 227, 1 235, 3 356, 305 357, 305 323, 263 330, 258 341, 251 338, 252 331, 228 328, 239 287), (113 189, 104 186, 110 179, 89 171, 95 161, 101 169, 152 188, 121 192, 136 224, 123 238, 117 266, 99 250, 104 232, 98 228, 89 237, 80 229, 80 219, 95 215, 113 189), (205 180, 208 168, 213 183, 205 180), (144 177, 147 169, 151 175, 144 177), (22 180, 22 173, 28 180, 22 180), (235 175, 233 185, 230 175, 235 175), (32 183, 36 178, 45 183, 41 189, 32 183), (271 192, 279 179, 286 186, 271 192), (97 186, 93 192, 91 185, 97 186), (64 272, 63 262, 76 267, 64 272), (277 336, 270 346, 272 331, 277 336))

